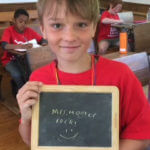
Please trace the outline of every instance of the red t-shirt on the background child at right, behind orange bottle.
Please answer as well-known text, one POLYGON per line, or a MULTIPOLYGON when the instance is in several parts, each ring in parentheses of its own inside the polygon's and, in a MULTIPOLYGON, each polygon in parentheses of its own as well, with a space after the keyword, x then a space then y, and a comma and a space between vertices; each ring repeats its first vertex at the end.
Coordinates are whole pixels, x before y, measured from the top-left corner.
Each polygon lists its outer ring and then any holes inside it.
POLYGON ((119 38, 119 32, 117 28, 112 27, 111 24, 102 23, 102 20, 105 18, 119 20, 118 14, 113 15, 109 13, 109 11, 105 11, 102 14, 100 24, 99 24, 99 33, 98 33, 98 38, 97 38, 98 42, 100 42, 101 40, 105 40, 105 39, 119 38))

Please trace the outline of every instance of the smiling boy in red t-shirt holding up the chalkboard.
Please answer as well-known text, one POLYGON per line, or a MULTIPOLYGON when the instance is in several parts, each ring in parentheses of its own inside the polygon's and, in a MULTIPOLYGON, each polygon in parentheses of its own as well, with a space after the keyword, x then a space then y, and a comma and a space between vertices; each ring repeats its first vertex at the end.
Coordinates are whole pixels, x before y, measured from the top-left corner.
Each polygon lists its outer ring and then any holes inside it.
POLYGON ((43 35, 57 60, 35 71, 17 94, 23 140, 30 144, 31 107, 42 84, 114 85, 120 91, 120 150, 146 148, 150 106, 141 84, 125 64, 96 60, 87 53, 98 20, 98 0, 39 0, 37 6, 43 35))

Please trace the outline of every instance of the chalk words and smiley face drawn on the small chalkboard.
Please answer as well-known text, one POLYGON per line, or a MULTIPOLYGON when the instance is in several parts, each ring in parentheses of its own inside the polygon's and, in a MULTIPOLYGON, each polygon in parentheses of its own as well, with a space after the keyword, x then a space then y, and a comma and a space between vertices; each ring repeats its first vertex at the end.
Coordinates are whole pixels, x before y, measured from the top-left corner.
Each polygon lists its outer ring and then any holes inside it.
POLYGON ((58 108, 52 108, 50 115, 56 116, 56 124, 64 126, 59 136, 65 140, 75 139, 79 135, 79 133, 76 132, 77 121, 83 118, 94 119, 96 117, 96 113, 58 108))

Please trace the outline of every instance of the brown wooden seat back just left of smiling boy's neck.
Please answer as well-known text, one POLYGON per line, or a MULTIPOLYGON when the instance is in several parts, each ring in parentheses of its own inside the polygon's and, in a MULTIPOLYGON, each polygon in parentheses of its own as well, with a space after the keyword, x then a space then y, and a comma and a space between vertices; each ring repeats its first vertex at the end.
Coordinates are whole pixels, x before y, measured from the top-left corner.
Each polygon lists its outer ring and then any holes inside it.
POLYGON ((31 72, 50 63, 54 59, 55 55, 48 46, 27 50, 27 62, 31 72))

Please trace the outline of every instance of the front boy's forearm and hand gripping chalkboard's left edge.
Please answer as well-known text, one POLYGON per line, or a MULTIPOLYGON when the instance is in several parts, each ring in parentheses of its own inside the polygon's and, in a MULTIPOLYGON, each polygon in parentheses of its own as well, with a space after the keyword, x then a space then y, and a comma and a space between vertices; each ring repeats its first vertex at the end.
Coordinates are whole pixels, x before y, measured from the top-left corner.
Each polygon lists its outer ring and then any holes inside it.
POLYGON ((26 82, 17 93, 21 113, 19 133, 27 145, 31 143, 32 106, 37 103, 41 86, 41 82, 26 82))

